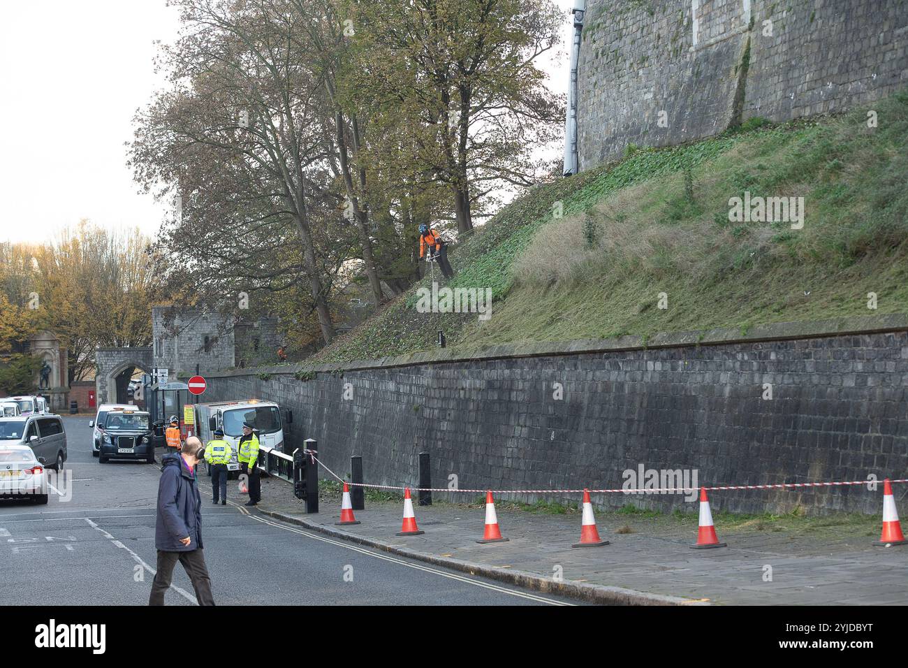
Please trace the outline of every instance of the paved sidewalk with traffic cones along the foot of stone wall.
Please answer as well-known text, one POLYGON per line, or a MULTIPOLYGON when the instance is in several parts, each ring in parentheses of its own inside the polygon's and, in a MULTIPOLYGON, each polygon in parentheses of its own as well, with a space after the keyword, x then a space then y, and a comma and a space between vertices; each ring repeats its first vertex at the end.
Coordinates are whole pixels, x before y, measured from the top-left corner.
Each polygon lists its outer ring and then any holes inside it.
MULTIPOLYGON (((319 514, 301 512, 290 484, 264 481, 263 511, 312 528, 358 537, 398 553, 434 563, 450 563, 476 573, 517 580, 542 591, 581 593, 599 601, 646 603, 646 595, 672 596, 686 603, 717 604, 904 604, 908 603, 908 545, 873 547, 879 529, 873 520, 855 531, 806 533, 785 527, 717 525, 727 548, 692 550, 696 514, 685 520, 598 513, 598 530, 610 544, 572 549, 580 536, 580 515, 528 513, 497 504, 498 523, 507 543, 476 543, 482 537, 482 505, 451 503, 415 506, 419 536, 400 537, 402 504, 366 503, 356 511, 357 525, 336 526, 337 493, 321 494, 319 514), (633 533, 616 533, 619 527, 633 533), (521 573, 516 578, 514 573, 521 573), (558 583, 557 576, 563 582, 558 583), (771 576, 771 580, 768 579, 771 576), (620 591, 593 591, 594 587, 620 591)), ((415 504, 415 500, 414 500, 415 504)), ((665 603, 656 599, 653 603, 665 603)))

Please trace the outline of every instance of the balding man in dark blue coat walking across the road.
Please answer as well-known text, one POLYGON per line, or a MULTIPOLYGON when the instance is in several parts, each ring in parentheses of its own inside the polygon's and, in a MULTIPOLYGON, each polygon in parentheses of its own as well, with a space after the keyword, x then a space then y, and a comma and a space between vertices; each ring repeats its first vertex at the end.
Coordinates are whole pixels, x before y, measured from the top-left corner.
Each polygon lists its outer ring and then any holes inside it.
POLYGON ((170 587, 177 562, 183 564, 189 575, 199 604, 214 604, 212 579, 202 553, 202 497, 195 479, 195 465, 201 453, 202 442, 191 436, 180 453, 164 455, 154 525, 158 572, 154 575, 149 605, 164 604, 164 592, 170 587))

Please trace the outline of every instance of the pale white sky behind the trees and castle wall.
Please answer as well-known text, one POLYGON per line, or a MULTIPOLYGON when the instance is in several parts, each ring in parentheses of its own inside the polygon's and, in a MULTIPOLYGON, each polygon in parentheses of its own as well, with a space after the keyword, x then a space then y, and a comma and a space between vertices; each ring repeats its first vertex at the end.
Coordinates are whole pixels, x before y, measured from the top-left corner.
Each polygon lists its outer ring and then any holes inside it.
MULTIPOLYGON (((569 8, 562 52, 545 65, 568 80, 569 8)), ((46 243, 87 218, 109 229, 157 232, 170 205, 139 192, 126 166, 133 115, 163 85, 155 40, 173 42, 166 0, 4 3, 0 20, 0 242, 46 243)))

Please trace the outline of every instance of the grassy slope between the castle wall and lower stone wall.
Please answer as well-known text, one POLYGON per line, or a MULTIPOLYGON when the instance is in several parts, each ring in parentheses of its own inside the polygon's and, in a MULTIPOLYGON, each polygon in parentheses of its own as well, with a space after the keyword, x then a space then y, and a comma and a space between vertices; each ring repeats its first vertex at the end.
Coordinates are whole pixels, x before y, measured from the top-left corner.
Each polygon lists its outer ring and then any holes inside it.
POLYGON ((492 288, 489 322, 419 314, 414 286, 315 361, 430 349, 439 329, 475 348, 908 312, 908 92, 873 109, 873 129, 865 111, 758 127, 540 185, 451 255, 452 287, 492 288), (745 190, 804 196, 804 229, 729 223, 745 190))

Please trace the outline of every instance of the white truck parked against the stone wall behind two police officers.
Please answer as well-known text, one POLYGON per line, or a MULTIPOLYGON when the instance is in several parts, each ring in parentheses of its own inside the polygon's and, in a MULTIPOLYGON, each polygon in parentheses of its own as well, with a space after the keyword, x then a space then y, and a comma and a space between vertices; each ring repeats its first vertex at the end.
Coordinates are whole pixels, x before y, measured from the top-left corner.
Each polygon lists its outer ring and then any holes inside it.
POLYGON ((260 445, 283 452, 284 433, 280 405, 258 399, 195 404, 195 433, 202 439, 203 445, 213 440, 215 429, 221 427, 224 430, 224 440, 230 444, 233 451, 230 464, 227 464, 228 473, 240 470, 237 454, 240 450, 244 422, 252 424, 260 445))

